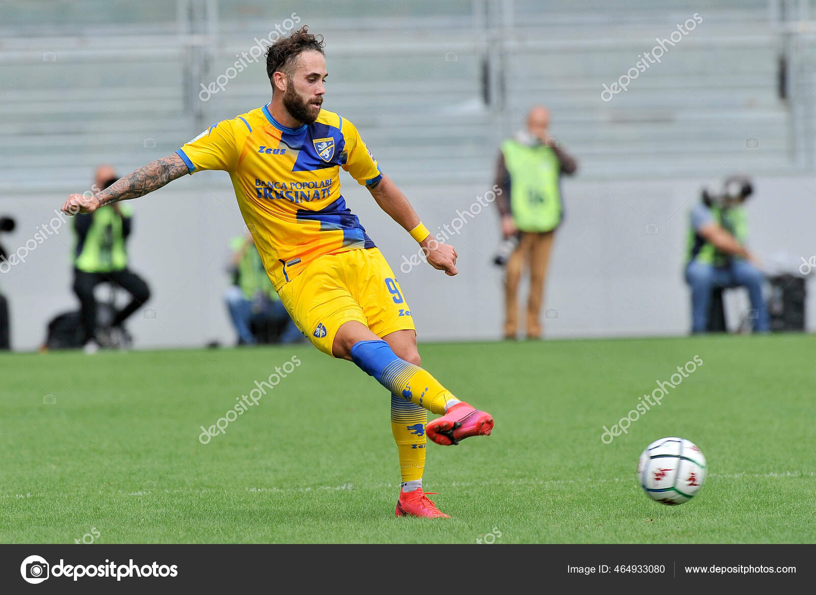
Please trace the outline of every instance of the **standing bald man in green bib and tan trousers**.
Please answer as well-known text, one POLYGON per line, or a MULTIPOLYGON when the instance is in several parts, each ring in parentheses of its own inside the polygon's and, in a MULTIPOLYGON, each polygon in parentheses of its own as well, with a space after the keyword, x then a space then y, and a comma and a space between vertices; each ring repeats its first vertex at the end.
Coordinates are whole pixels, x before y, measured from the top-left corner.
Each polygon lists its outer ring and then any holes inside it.
POLYGON ((515 339, 518 330, 518 284, 530 263, 530 296, 527 300, 528 339, 541 338, 541 304, 552 237, 561 223, 561 174, 578 169, 573 158, 547 133, 550 113, 536 105, 527 114, 527 130, 505 140, 499 153, 496 204, 502 217, 504 238, 518 238, 507 262, 505 278, 504 338, 515 339))

